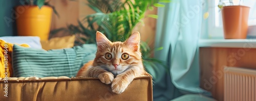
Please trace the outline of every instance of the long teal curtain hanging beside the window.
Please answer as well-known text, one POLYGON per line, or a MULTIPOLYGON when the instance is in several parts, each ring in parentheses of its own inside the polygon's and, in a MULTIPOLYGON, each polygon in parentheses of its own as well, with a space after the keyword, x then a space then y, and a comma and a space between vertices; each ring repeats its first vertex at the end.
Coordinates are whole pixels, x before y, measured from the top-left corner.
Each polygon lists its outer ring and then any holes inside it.
POLYGON ((170 100, 182 94, 210 93, 199 87, 198 42, 202 26, 201 0, 172 0, 158 9, 155 57, 169 71, 159 68, 154 80, 154 100, 170 100))

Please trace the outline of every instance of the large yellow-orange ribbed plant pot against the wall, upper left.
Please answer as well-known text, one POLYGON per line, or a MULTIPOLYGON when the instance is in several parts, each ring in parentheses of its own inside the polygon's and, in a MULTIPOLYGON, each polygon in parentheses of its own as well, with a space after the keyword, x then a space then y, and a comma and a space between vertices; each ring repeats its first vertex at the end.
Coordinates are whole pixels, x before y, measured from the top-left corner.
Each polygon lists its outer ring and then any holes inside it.
POLYGON ((18 36, 38 36, 40 40, 48 40, 52 8, 42 6, 17 6, 15 7, 18 36))

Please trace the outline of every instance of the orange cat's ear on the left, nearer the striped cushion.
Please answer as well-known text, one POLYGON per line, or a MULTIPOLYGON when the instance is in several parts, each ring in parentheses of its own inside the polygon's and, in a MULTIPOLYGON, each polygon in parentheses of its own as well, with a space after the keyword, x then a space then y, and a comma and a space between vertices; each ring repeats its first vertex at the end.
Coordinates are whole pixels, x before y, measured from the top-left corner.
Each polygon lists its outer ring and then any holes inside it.
POLYGON ((110 41, 108 40, 108 38, 106 38, 106 36, 99 31, 96 32, 96 42, 97 42, 97 47, 100 50, 105 49, 106 46, 110 44, 110 41))

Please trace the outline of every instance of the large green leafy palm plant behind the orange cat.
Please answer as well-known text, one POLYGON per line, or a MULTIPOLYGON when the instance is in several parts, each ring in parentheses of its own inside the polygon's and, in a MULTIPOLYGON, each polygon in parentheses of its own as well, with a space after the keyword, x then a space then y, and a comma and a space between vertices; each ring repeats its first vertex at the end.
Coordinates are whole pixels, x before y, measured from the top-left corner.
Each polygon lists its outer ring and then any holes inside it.
MULTIPOLYGON (((59 28, 52 30, 52 34, 65 30, 79 37, 82 43, 96 43, 96 31, 101 31, 111 41, 124 41, 133 33, 134 27, 139 22, 143 22, 145 17, 157 18, 157 15, 145 15, 146 10, 155 7, 164 7, 159 4, 169 3, 170 0, 87 0, 88 6, 96 13, 84 17, 82 21, 78 20, 78 26, 68 25, 68 28, 59 28), (84 26, 84 25, 86 26, 84 26)), ((81 43, 77 42, 77 43, 81 43)), ((76 43, 76 44, 77 44, 76 43)), ((160 50, 162 47, 154 49, 160 50)), ((156 77, 158 67, 156 63, 162 64, 160 60, 152 58, 151 49, 146 42, 140 43, 140 49, 143 58, 143 64, 148 73, 153 78, 156 77)), ((163 65, 165 67, 165 65, 163 65)), ((158 72, 159 73, 159 72, 158 72)))

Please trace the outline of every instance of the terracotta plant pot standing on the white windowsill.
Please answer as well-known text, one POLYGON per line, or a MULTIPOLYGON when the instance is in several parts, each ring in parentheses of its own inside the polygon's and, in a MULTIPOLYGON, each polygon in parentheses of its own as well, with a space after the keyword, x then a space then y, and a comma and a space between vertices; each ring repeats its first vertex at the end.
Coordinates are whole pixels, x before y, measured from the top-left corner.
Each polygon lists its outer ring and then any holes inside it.
POLYGON ((246 6, 223 7, 224 39, 246 39, 249 10, 246 6))

